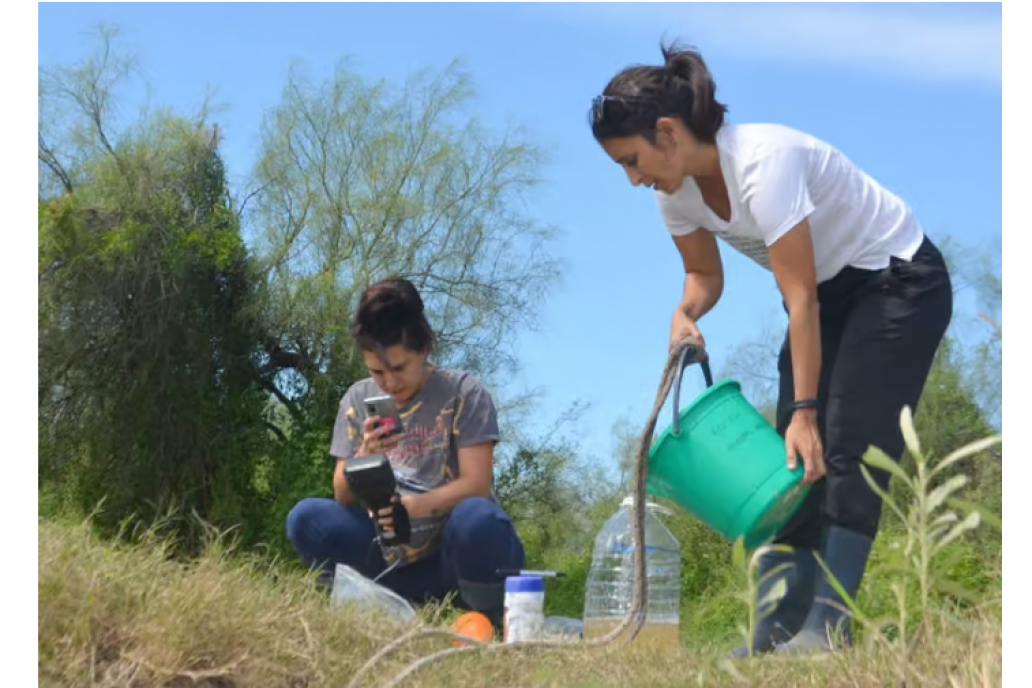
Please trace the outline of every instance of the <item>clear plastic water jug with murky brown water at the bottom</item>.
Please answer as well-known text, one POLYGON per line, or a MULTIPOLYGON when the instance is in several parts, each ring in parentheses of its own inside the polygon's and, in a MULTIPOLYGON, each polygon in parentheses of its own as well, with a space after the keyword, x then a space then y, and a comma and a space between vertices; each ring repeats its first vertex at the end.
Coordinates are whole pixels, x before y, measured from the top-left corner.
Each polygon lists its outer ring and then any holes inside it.
MULTIPOLYGON (((648 611, 636 645, 678 647, 681 622, 681 546, 657 513, 671 512, 645 502, 645 552, 648 611)), ((595 536, 584 590, 584 637, 611 632, 631 610, 635 590, 634 497, 595 536)))

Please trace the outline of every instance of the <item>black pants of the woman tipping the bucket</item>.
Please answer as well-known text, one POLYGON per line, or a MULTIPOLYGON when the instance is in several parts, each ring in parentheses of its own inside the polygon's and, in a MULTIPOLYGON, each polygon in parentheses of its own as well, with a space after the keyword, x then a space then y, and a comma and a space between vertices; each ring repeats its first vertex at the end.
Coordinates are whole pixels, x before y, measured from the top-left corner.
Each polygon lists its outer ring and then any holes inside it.
MULTIPOLYGON (((881 499, 860 470, 872 445, 899 461, 900 412, 916 411, 932 360, 953 318, 953 285, 942 255, 925 239, 913 259, 883 270, 847 267, 817 287, 823 365, 817 424, 825 446, 824 480, 775 537, 819 549, 826 525, 873 537, 881 499)), ((778 359, 777 430, 792 421, 795 385, 788 335, 778 359)), ((890 476, 868 466, 882 487, 890 476)))

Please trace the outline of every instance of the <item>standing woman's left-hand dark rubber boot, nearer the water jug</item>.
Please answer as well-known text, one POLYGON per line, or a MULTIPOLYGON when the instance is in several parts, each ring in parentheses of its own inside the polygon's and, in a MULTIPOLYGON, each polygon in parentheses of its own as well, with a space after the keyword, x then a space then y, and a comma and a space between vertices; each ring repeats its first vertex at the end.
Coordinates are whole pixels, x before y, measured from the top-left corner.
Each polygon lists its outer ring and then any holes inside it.
POLYGON ((732 656, 738 659, 771 652, 776 645, 787 643, 802 628, 813 600, 817 569, 813 550, 770 550, 760 556, 756 568, 760 579, 757 603, 770 594, 779 581, 784 581, 784 595, 773 604, 768 603, 757 610, 760 618, 752 631, 751 647, 742 645, 732 652, 732 656), (770 575, 775 568, 780 570, 770 575))

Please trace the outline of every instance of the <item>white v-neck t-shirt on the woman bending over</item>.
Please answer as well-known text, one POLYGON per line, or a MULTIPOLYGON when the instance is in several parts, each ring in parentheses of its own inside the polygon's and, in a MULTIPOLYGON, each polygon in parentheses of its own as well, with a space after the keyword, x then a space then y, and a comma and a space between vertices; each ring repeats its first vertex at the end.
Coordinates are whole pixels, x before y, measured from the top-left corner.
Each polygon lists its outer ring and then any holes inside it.
POLYGON ((910 260, 924 240, 902 199, 813 136, 780 125, 729 125, 716 143, 731 222, 685 177, 676 193, 656 192, 675 236, 705 228, 769 270, 768 248, 809 218, 818 283, 846 266, 877 270, 893 256, 910 260))

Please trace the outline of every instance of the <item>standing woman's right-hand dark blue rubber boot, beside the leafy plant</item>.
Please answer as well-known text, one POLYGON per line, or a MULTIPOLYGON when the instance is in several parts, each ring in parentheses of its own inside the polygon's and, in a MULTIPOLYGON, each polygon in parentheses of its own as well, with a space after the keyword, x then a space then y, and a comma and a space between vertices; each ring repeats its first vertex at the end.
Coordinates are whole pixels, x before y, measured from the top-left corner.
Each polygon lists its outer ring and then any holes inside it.
MULTIPOLYGON (((831 575, 853 600, 864 579, 873 543, 872 538, 854 530, 839 526, 828 528, 820 556, 831 575)), ((806 622, 794 638, 776 651, 779 654, 831 652, 835 649, 833 642, 848 647, 852 645, 850 617, 849 608, 828 582, 828 574, 821 569, 806 622)))

